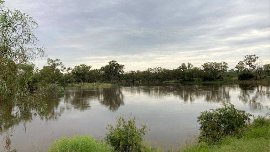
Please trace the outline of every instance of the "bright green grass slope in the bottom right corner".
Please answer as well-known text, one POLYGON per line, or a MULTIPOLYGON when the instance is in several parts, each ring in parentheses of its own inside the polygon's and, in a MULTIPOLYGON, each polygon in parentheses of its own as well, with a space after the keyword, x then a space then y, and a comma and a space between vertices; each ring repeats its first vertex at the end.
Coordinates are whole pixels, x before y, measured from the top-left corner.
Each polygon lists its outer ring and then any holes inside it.
POLYGON ((258 116, 253 123, 243 129, 242 137, 226 137, 219 144, 186 144, 175 152, 268 152, 270 151, 270 120, 258 116))

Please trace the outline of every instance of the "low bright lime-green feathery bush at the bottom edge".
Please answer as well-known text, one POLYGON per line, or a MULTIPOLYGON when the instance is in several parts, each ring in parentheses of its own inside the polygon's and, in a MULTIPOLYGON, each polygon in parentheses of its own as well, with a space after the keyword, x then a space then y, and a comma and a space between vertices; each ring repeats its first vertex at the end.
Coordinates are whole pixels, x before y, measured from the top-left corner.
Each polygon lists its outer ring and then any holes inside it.
POLYGON ((112 152, 105 142, 96 142, 96 139, 91 136, 76 136, 72 139, 63 137, 56 140, 48 152, 112 152))

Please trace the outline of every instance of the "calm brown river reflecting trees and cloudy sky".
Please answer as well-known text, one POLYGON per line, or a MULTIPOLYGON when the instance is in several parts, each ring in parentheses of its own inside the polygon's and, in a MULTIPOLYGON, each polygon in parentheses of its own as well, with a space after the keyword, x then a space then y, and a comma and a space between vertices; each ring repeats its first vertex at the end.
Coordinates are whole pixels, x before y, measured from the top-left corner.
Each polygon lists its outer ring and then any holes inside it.
MULTIPOLYGON (((197 116, 210 108, 230 102, 254 115, 267 113, 270 86, 213 84, 163 84, 157 86, 120 86, 112 88, 66 90, 62 95, 44 97, 48 104, 44 120, 18 122, 11 137, 19 152, 46 151, 62 136, 89 134, 102 140, 107 124, 116 117, 138 116, 150 131, 144 136, 153 146, 172 149, 194 140, 200 134, 197 116)), ((6 135, 0 131, 0 138, 6 135)), ((0 142, 0 148, 4 142, 0 142)), ((0 151, 3 149, 0 149, 0 151)))

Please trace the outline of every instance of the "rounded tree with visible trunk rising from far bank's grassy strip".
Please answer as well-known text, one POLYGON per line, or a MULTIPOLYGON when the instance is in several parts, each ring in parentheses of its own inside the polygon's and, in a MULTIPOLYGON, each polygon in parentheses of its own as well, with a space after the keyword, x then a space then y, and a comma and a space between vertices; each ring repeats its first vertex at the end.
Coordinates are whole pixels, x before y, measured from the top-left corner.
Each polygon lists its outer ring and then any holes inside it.
POLYGON ((83 85, 83 81, 87 80, 87 76, 90 72, 92 66, 87 66, 86 64, 80 64, 80 66, 75 66, 71 73, 81 81, 81 85, 83 85))

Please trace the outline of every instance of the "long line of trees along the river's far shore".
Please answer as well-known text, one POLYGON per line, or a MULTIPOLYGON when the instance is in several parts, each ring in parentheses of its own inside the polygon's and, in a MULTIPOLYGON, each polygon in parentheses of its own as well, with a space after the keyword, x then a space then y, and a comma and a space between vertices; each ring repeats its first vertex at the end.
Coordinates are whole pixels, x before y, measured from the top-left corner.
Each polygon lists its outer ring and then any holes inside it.
POLYGON ((91 65, 80 64, 74 68, 66 68, 60 59, 47 60, 47 66, 42 69, 32 69, 36 81, 66 86, 69 83, 108 82, 116 84, 121 81, 136 83, 162 83, 164 81, 227 81, 231 80, 262 80, 269 79, 270 64, 262 65, 257 55, 246 55, 234 69, 229 70, 228 63, 206 62, 202 67, 191 63, 182 63, 177 69, 162 67, 148 68, 145 71, 124 71, 124 65, 116 60, 109 61, 100 69, 91 69, 91 65))

